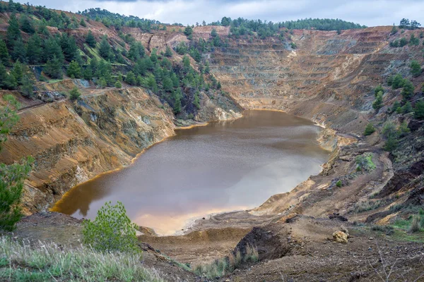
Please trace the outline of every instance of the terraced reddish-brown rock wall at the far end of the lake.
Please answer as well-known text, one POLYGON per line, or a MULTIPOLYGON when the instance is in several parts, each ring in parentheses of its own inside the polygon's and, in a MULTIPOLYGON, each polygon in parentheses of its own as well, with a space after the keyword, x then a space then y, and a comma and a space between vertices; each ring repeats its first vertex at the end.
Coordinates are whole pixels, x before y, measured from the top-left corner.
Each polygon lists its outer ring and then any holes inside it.
MULTIPOLYGON (((196 29, 195 29, 196 31, 196 29)), ((375 99, 373 88, 391 73, 408 76, 419 46, 392 48, 391 27, 336 31, 294 30, 297 49, 278 39, 230 39, 208 59, 211 71, 246 109, 281 109, 328 125, 338 133, 362 135, 375 99)), ((203 34, 202 34, 203 35, 203 34)))

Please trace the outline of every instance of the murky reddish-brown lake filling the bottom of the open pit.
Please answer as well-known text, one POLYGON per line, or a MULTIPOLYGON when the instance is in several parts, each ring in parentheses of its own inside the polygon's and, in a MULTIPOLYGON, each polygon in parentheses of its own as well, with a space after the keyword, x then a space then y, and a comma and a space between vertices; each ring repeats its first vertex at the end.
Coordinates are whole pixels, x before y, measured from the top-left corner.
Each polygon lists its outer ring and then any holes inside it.
POLYGON ((278 111, 177 130, 131 166, 72 188, 53 210, 93 219, 105 202, 121 201, 132 221, 170 235, 190 219, 257 207, 319 173, 329 156, 320 130, 278 111))

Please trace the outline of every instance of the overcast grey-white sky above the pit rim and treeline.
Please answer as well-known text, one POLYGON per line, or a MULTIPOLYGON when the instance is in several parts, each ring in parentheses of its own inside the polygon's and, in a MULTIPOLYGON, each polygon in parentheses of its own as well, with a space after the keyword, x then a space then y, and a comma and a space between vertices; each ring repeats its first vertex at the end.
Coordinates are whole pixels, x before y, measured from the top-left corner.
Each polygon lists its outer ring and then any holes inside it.
POLYGON ((210 23, 223 16, 273 22, 341 18, 368 26, 398 24, 401 18, 409 18, 424 25, 423 0, 33 0, 30 4, 73 12, 100 7, 127 16, 184 25, 203 20, 210 23))

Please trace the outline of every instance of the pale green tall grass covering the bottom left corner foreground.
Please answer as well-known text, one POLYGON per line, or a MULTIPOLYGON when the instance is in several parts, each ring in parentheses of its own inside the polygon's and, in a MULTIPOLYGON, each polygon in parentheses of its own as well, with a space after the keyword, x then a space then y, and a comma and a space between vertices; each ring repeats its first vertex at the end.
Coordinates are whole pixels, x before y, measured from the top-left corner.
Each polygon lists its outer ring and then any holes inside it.
POLYGON ((31 247, 0 238, 0 281, 163 281, 141 265, 139 255, 61 250, 53 243, 31 247))

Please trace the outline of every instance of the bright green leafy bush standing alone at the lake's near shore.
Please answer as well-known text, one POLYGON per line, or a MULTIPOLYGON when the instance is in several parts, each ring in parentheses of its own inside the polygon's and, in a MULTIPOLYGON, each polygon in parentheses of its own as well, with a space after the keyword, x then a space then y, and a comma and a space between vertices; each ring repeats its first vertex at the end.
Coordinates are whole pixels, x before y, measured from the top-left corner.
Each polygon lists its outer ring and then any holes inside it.
POLYGON ((98 210, 94 221, 84 221, 83 243, 105 252, 140 252, 136 225, 126 216, 122 202, 114 206, 106 202, 98 210))

